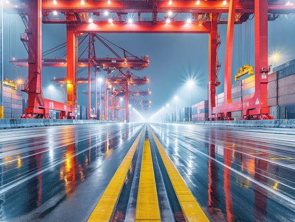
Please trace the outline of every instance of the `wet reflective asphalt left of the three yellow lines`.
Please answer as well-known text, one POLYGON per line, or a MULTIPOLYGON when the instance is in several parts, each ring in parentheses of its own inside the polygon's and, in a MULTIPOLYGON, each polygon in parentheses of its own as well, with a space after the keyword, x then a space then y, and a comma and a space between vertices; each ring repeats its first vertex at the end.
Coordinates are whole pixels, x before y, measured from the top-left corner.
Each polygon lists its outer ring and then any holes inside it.
POLYGON ((0 222, 85 222, 143 124, 0 131, 0 222))

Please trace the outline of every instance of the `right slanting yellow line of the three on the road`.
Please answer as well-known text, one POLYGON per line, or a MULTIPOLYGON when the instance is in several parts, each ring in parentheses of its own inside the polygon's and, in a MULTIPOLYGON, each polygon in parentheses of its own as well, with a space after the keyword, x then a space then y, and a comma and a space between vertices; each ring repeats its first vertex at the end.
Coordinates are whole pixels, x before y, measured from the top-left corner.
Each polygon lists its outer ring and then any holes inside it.
POLYGON ((178 173, 177 169, 174 167, 172 161, 170 160, 169 156, 167 155, 166 151, 164 150, 163 146, 161 145, 159 139, 153 133, 152 129, 149 127, 153 139, 155 140, 159 152, 161 154, 162 160, 168 172, 169 178, 173 185, 174 191, 177 195, 177 199, 181 206, 183 215, 187 222, 209 222, 206 214, 200 207, 199 203, 190 192, 186 184, 184 183, 183 179, 181 178, 180 174, 178 173))

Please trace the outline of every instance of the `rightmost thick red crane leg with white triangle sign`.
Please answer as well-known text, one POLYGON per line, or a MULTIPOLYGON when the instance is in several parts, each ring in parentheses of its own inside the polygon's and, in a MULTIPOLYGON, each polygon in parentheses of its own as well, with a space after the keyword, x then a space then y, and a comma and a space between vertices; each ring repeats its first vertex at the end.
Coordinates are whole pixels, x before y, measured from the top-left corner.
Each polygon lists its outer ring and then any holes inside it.
MULTIPOLYGON (((267 108, 268 75, 267 72, 264 72, 268 70, 267 7, 267 0, 255 0, 255 95, 257 98, 254 98, 253 103, 255 103, 256 109, 267 108)), ((264 110, 264 113, 260 114, 267 114, 267 111, 264 110)))

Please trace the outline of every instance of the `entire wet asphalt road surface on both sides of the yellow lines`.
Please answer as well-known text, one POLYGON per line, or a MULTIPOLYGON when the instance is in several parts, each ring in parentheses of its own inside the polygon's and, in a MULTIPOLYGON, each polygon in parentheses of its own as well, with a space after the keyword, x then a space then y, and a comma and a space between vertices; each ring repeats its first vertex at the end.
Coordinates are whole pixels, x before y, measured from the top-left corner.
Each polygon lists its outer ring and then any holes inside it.
MULTIPOLYGON (((143 126, 0 130, 0 222, 86 222, 143 126)), ((294 130, 150 126, 211 222, 295 221, 294 130)), ((173 195, 165 194, 171 190, 150 141, 157 189, 167 205, 173 195)), ((140 168, 142 145, 134 169, 140 168)), ((136 189, 130 183, 123 188, 128 198, 136 189)), ((120 198, 120 217, 127 218, 128 201, 120 198)))

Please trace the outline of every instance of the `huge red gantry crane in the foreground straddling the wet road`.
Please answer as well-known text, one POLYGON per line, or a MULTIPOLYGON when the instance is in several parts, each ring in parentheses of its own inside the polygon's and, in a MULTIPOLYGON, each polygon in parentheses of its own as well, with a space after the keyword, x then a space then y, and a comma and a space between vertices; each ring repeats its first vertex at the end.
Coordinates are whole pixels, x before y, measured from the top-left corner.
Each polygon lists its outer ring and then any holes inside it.
MULTIPOLYGON (((90 33, 89 41, 95 38, 95 33, 207 33, 209 34, 209 118, 229 117, 232 111, 243 111, 243 119, 267 119, 267 21, 273 21, 279 14, 295 13, 295 4, 288 0, 147 0, 147 1, 84 1, 84 0, 25 0, 3 2, 4 11, 28 15, 28 51, 29 77, 23 85, 23 90, 29 93, 29 107, 26 117, 47 117, 48 109, 54 104, 55 108, 73 112, 75 107, 75 68, 77 36, 80 33, 90 33), (117 13, 116 17, 103 17, 105 12, 117 13), (158 13, 191 13, 191 18, 176 18, 165 16, 159 18, 158 13), (64 14, 63 17, 50 16, 64 14), (93 13, 90 18, 89 13, 93 13), (126 13, 138 13, 131 23, 126 20, 126 13), (142 13, 150 13, 151 18, 142 18, 142 13), (220 13, 228 13, 227 19, 221 19, 220 13), (249 14, 255 13, 255 93, 250 99, 232 102, 232 55, 234 40, 234 25, 248 19, 249 14), (42 26, 41 23, 66 24, 67 29, 67 104, 46 100, 42 94, 42 26), (215 87, 219 85, 216 72, 220 63, 216 59, 218 48, 218 24, 227 24, 226 60, 225 60, 225 101, 221 106, 215 104, 215 87)), ((126 57, 124 57, 125 59, 126 57)), ((89 56, 88 66, 95 66, 89 56)), ((117 61, 117 58, 116 58, 117 61)), ((126 77, 127 78, 127 77, 126 77)), ((90 78, 89 78, 90 82, 90 78)), ((90 91, 90 90, 89 90, 90 91)))

